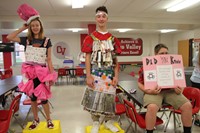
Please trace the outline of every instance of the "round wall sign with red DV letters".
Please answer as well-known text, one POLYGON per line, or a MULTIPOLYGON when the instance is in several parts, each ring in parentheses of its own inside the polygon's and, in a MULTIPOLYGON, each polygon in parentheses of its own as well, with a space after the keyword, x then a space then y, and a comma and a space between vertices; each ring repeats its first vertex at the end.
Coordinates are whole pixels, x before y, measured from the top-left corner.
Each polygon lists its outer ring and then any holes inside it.
POLYGON ((56 58, 64 59, 70 55, 69 46, 65 42, 57 42, 53 45, 53 54, 56 58))

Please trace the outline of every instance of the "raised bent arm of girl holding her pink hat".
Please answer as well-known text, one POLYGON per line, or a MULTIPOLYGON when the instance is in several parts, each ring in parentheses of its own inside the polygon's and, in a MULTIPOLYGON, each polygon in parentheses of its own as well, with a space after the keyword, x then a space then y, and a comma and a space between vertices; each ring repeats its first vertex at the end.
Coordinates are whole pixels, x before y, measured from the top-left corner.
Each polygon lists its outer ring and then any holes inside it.
POLYGON ((9 41, 13 41, 13 42, 18 42, 20 43, 20 38, 17 36, 18 34, 20 34, 22 31, 26 30, 28 28, 27 25, 23 25, 21 28, 19 28, 18 30, 10 33, 8 36, 7 36, 7 39, 9 41))

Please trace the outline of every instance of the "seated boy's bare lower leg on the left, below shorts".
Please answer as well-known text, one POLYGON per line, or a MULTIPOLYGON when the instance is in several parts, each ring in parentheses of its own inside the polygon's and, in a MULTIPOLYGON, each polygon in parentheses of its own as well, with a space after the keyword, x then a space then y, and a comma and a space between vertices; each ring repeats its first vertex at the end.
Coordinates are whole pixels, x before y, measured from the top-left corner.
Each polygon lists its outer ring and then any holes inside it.
POLYGON ((147 113, 145 116, 147 130, 154 129, 158 110, 159 110, 159 107, 156 104, 149 104, 147 106, 147 113))

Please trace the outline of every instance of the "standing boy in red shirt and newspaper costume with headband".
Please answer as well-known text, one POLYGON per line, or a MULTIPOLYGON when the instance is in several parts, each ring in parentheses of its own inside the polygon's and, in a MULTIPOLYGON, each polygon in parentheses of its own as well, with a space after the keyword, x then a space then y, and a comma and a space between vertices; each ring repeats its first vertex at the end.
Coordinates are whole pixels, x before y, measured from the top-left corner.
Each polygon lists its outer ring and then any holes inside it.
POLYGON ((112 132, 119 129, 113 125, 115 115, 115 93, 118 82, 116 55, 121 53, 120 42, 107 31, 108 12, 105 6, 96 9, 97 31, 88 35, 82 52, 86 53, 87 88, 82 105, 93 119, 91 133, 98 133, 99 118, 105 115, 104 125, 112 132))

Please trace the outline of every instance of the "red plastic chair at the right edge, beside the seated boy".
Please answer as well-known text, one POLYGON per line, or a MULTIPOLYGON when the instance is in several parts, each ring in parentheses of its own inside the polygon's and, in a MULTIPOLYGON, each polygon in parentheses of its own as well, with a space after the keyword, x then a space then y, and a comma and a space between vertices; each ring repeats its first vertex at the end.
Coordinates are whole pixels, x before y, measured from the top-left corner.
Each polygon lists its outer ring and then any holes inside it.
MULTIPOLYGON (((183 90, 183 95, 188 100, 190 100, 190 102, 192 104, 192 116, 193 116, 192 124, 194 124, 196 114, 200 110, 200 90, 198 88, 194 88, 194 87, 185 87, 184 90, 183 90)), ((172 109, 172 111, 169 114, 169 120, 170 120, 172 113, 173 113, 173 116, 174 116, 174 131, 176 131, 176 123, 175 123, 176 116, 175 116, 175 114, 181 114, 181 110, 172 109)), ((166 131, 166 128, 169 124, 169 120, 167 122, 167 125, 166 125, 164 131, 166 131)))

